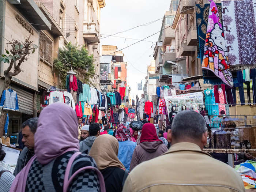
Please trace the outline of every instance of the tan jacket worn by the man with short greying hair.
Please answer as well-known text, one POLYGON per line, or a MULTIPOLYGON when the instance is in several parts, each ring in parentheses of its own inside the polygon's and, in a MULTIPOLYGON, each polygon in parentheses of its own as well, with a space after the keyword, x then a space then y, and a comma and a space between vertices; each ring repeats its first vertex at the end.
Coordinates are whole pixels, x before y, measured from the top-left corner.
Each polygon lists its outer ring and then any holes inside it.
POLYGON ((174 144, 136 166, 123 192, 244 192, 241 176, 193 143, 174 144))

